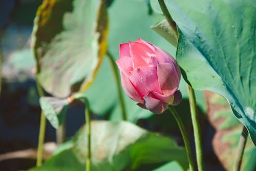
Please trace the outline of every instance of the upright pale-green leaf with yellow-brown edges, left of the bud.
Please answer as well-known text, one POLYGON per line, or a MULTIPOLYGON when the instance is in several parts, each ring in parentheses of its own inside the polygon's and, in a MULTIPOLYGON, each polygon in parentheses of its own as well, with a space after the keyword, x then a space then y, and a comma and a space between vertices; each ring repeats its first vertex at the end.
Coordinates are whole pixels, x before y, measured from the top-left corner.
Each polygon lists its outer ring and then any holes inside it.
POLYGON ((106 7, 101 0, 47 0, 38 8, 32 47, 37 77, 54 96, 88 87, 106 52, 106 7))

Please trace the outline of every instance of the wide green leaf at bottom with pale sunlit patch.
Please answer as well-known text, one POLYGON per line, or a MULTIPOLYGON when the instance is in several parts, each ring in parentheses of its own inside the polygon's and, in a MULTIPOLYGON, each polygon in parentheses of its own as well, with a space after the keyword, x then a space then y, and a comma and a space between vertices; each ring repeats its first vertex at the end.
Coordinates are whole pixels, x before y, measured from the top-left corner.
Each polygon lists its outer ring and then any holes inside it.
MULTIPOLYGON (((147 164, 177 161, 188 168, 186 153, 173 139, 150 133, 129 122, 92 121, 92 170, 136 170, 147 164)), ((87 127, 41 167, 31 170, 84 170, 87 158, 87 127), (66 160, 66 162, 65 162, 66 160)))

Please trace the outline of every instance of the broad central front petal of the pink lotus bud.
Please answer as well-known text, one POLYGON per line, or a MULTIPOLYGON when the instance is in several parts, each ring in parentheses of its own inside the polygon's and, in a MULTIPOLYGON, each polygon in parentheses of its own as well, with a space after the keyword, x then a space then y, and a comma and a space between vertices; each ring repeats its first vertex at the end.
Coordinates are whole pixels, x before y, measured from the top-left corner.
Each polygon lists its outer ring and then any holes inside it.
POLYGON ((161 93, 157 79, 157 67, 135 68, 132 71, 129 79, 136 88, 141 99, 143 99, 143 96, 151 91, 161 93))

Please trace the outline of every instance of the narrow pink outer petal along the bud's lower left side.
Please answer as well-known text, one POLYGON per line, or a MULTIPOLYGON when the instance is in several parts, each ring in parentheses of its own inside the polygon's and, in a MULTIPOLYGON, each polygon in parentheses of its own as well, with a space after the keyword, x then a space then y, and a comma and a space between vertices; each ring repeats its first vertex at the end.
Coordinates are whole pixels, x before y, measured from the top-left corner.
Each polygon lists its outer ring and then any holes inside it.
POLYGON ((124 92, 135 102, 143 103, 142 98, 139 96, 129 78, 122 71, 120 71, 120 76, 124 92))

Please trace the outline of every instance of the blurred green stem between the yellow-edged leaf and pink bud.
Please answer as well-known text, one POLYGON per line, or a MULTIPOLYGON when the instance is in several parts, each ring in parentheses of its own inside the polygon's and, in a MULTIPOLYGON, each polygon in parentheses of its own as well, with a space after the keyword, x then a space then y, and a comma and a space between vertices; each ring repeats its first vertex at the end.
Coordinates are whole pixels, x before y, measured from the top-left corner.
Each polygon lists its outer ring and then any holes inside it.
POLYGON ((122 110, 122 117, 123 120, 126 120, 126 110, 125 110, 125 105, 124 105, 124 100, 123 100, 123 95, 122 95, 122 88, 120 85, 120 80, 119 80, 119 76, 118 76, 118 69, 114 60, 114 57, 110 54, 110 52, 107 53, 109 59, 110 59, 110 64, 115 76, 115 80, 116 80, 116 85, 117 85, 117 90, 118 90, 118 97, 119 97, 119 102, 121 105, 121 110, 122 110))

